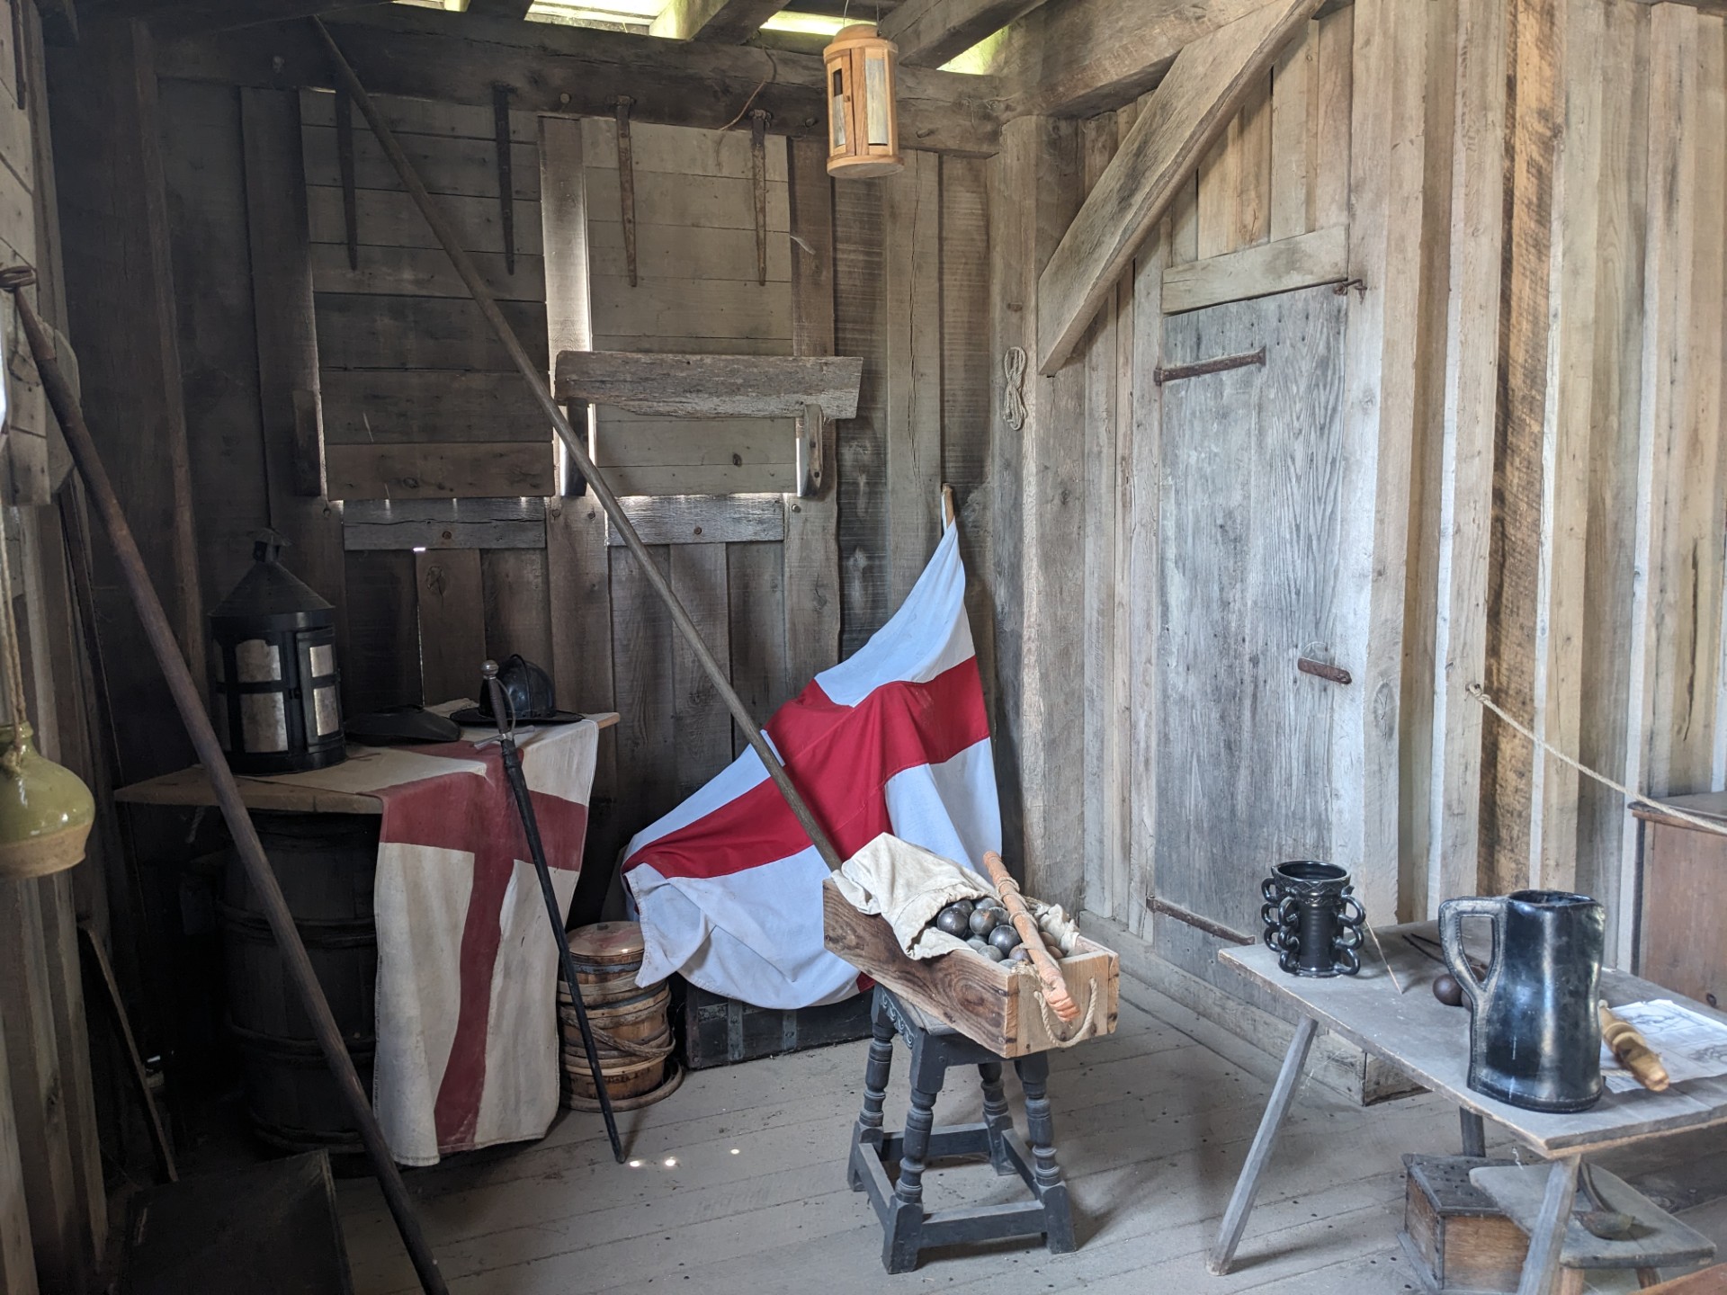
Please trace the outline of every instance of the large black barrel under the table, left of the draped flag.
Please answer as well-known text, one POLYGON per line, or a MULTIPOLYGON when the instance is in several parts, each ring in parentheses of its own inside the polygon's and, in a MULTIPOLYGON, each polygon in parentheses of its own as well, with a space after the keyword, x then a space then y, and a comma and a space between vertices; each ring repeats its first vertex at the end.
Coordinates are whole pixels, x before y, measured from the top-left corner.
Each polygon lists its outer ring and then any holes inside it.
MULTIPOLYGON (((257 836, 294 913, 359 1083, 371 1091, 378 931, 371 882, 378 818, 254 813, 257 836)), ((283 1150, 361 1153, 311 1020, 288 979, 245 867, 230 851, 221 901, 228 1029, 240 1046, 252 1126, 283 1150)))

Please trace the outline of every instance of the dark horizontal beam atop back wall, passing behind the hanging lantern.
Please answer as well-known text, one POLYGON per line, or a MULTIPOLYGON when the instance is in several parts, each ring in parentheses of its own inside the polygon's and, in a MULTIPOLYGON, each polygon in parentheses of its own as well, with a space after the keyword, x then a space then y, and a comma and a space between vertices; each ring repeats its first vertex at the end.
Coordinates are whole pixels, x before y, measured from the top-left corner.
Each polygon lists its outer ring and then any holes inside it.
MULTIPOLYGON (((387 7, 330 21, 347 59, 380 95, 492 104, 499 81, 525 112, 610 116, 620 95, 636 121, 718 130, 739 111, 767 109, 769 130, 826 138, 822 60, 710 41, 668 41, 553 22, 387 7), (751 98, 753 97, 753 98, 751 98)), ((283 22, 162 41, 162 76, 249 86, 333 85, 311 24, 283 22)), ((988 157, 1002 138, 993 78, 907 67, 900 136, 908 148, 988 157)))

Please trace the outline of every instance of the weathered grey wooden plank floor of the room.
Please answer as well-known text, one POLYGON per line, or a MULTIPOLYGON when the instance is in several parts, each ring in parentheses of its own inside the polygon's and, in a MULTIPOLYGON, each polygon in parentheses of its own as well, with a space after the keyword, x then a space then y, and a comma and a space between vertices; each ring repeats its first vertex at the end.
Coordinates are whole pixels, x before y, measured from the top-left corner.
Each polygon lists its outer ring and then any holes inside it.
MULTIPOLYGON (((1143 986, 1124 981, 1123 1000, 1119 1033, 1059 1055, 1050 1076, 1078 1216, 1072 1255, 1012 1241, 938 1252, 917 1273, 884 1274, 876 1219, 845 1184, 862 1043, 689 1076, 670 1100, 620 1117, 627 1167, 611 1162, 598 1115, 565 1114, 541 1143, 409 1171, 408 1183, 461 1295, 1418 1288, 1395 1240, 1401 1155, 1456 1152, 1454 1107, 1418 1096, 1363 1110, 1306 1084, 1237 1271, 1212 1278, 1205 1247, 1276 1058, 1143 986)), ((889 1128, 905 1110, 903 1048, 895 1062, 889 1128)), ((1024 1129, 1012 1081, 1009 1093, 1024 1129)), ((979 1105, 974 1086, 948 1091, 936 1117, 976 1119, 979 1105)), ((1675 1207, 1715 1198, 1686 1219, 1727 1250, 1727 1155, 1720 1140, 1708 1148, 1698 1141, 1603 1164, 1675 1207)), ((1489 1147, 1509 1153, 1492 1126, 1489 1147)), ((964 1164, 927 1174, 926 1202, 1009 1200, 1012 1188, 988 1167, 964 1164)), ((352 1179, 340 1195, 356 1292, 418 1290, 376 1186, 352 1179)))

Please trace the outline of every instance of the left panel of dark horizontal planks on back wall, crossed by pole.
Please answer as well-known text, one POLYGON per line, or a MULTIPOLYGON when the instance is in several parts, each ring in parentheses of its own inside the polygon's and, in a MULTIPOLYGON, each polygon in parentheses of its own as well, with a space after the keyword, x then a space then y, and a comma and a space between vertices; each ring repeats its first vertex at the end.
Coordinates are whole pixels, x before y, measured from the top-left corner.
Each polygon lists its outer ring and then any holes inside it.
MULTIPOLYGON (((494 114, 425 100, 385 100, 385 114, 504 316, 530 354, 539 351, 546 281, 534 116, 509 114, 511 269, 494 114)), ((551 494, 544 416, 357 114, 352 135, 351 256, 337 97, 300 93, 330 497, 551 494)))

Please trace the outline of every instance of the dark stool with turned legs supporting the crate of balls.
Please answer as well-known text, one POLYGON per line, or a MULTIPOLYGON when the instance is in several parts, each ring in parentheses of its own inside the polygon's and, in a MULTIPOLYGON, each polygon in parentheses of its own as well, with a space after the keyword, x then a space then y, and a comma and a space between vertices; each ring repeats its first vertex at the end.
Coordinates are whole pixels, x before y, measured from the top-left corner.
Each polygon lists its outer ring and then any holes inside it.
POLYGON ((864 1069, 864 1110, 851 1131, 846 1181, 853 1191, 869 1191, 881 1219, 884 1241, 881 1262, 889 1273, 917 1267, 917 1252, 936 1245, 993 1241, 1002 1236, 1041 1235, 1050 1254, 1074 1248, 1067 1184, 1055 1164, 1055 1124, 1045 1081, 1048 1057, 1031 1053, 1014 1058, 1019 1086, 1026 1093, 1028 1157, 1014 1133, 1014 1115, 1002 1091, 1002 1057, 950 1026, 931 1020, 882 986, 870 1005, 869 1064, 864 1069), (903 1133, 882 1133, 881 1105, 888 1096, 895 1031, 912 1050, 912 1109, 903 1133), (976 1065, 983 1076, 983 1122, 934 1128, 936 1095, 950 1065, 976 1065), (931 1214, 924 1209, 924 1169, 931 1160, 986 1155, 1000 1176, 1019 1174, 1034 1200, 1017 1205, 983 1205, 931 1214), (898 1162, 898 1181, 888 1166, 898 1162))

